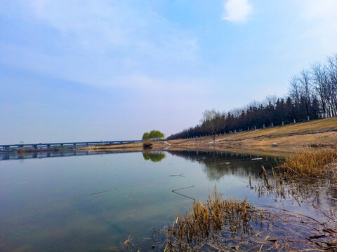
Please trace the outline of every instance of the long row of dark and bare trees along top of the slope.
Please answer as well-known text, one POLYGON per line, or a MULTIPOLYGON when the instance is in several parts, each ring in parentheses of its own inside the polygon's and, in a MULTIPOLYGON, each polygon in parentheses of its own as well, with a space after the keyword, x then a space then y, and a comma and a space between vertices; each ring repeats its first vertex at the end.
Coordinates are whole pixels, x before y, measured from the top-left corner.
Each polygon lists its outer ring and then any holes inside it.
POLYGON ((270 96, 263 102, 251 102, 229 112, 205 111, 200 124, 168 139, 180 139, 234 130, 282 125, 337 116, 337 55, 324 64, 312 64, 290 80, 289 94, 270 96))

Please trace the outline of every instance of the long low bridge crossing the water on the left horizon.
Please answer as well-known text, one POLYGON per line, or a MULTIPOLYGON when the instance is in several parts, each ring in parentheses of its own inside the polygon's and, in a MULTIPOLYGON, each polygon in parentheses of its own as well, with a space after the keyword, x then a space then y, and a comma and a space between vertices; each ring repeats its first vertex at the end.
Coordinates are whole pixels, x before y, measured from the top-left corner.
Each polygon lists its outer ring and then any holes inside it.
POLYGON ((76 146, 95 146, 103 144, 127 144, 127 143, 141 143, 143 140, 124 140, 124 141, 84 141, 84 142, 62 142, 62 143, 39 143, 39 144, 2 144, 0 145, 0 150, 9 151, 10 148, 22 148, 22 147, 32 147, 33 149, 38 148, 51 148, 51 146, 60 146, 60 148, 76 146))

